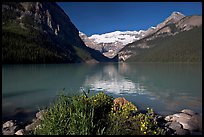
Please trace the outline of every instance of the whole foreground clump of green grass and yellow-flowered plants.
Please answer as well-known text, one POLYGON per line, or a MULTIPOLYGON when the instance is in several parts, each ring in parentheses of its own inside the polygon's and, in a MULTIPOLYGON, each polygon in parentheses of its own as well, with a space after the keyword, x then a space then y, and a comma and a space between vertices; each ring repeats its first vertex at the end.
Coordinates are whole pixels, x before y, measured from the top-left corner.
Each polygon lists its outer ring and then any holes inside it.
POLYGON ((132 103, 114 110, 113 98, 103 92, 69 97, 61 93, 44 113, 34 135, 163 135, 154 113, 138 111, 132 103))

